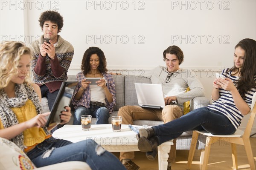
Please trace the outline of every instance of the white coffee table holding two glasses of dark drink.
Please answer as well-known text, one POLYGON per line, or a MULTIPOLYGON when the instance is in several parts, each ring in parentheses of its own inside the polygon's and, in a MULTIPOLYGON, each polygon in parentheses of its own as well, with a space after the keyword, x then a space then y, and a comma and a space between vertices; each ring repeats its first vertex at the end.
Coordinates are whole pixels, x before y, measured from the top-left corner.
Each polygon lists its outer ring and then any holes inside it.
MULTIPOLYGON (((134 127, 141 127, 135 126, 134 127)), ((94 140, 109 152, 131 152, 139 151, 138 140, 134 131, 126 124, 122 124, 121 132, 113 132, 111 124, 92 124, 91 129, 81 130, 81 125, 64 125, 52 134, 54 138, 65 139, 73 143, 82 140, 94 140)), ((167 169, 172 140, 158 146, 158 168, 167 169)))

